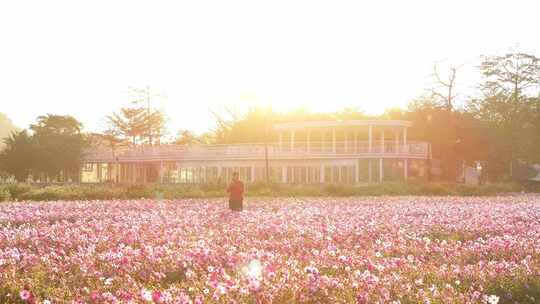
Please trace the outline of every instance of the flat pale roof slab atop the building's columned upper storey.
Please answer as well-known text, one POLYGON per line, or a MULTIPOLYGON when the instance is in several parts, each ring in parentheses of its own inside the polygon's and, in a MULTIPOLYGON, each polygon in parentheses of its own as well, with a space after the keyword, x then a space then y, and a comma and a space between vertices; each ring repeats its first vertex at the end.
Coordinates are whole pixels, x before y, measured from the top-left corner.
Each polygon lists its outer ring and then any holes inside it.
POLYGON ((356 126, 379 127, 410 127, 412 123, 406 120, 328 120, 328 121, 301 121, 274 124, 275 130, 294 130, 306 128, 334 128, 356 126))

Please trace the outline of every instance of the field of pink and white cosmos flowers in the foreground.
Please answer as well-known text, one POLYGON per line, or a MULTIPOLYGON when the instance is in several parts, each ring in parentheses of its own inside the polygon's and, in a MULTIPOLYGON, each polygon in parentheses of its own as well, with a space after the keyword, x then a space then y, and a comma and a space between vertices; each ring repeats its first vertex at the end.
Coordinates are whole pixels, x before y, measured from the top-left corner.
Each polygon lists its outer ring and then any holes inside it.
POLYGON ((1 303, 540 303, 540 197, 0 204, 1 303))

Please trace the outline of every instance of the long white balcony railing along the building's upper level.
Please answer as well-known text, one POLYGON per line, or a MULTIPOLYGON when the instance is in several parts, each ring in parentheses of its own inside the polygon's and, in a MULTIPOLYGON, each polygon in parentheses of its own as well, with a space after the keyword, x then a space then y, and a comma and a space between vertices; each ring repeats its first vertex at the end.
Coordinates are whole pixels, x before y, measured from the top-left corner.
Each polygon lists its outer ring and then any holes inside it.
MULTIPOLYGON (((367 141, 333 142, 290 142, 269 143, 268 157, 272 159, 382 156, 427 158, 429 144, 410 142, 396 144, 394 141, 373 141, 371 148, 367 141)), ((118 161, 147 160, 219 160, 219 159, 257 159, 264 158, 265 144, 230 145, 161 145, 124 148, 114 153, 118 161)), ((111 150, 89 151, 86 161, 115 161, 111 150)))

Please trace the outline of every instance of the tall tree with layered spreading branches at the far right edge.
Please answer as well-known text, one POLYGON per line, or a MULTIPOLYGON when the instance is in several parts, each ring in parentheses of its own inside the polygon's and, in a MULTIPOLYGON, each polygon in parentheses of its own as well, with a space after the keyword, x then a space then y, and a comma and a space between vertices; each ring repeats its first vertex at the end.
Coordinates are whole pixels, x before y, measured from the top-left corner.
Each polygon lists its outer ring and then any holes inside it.
POLYGON ((484 56, 480 72, 483 96, 467 110, 483 124, 489 174, 515 176, 516 160, 540 161, 540 58, 519 52, 484 56))

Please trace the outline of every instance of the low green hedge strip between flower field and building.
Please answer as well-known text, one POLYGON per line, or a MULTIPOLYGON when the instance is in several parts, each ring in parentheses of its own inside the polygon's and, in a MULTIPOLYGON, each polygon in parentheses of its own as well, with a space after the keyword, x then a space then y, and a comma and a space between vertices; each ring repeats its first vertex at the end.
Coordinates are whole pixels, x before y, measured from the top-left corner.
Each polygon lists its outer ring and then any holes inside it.
MULTIPOLYGON (((48 200, 106 200, 106 199, 175 199, 210 198, 225 196, 225 186, 205 185, 54 185, 31 186, 28 184, 0 185, 0 201, 48 200)), ((540 187, 524 187, 515 183, 470 186, 443 183, 382 183, 367 186, 353 185, 247 185, 247 196, 487 196, 513 192, 540 192, 540 187)))

